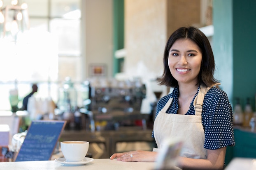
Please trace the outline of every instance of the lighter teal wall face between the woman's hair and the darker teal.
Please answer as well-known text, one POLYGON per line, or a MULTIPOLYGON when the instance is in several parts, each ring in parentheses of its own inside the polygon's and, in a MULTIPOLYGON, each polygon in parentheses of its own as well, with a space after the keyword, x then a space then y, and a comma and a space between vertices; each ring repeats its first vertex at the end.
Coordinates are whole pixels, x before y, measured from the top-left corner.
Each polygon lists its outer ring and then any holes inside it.
MULTIPOLYGON (((212 48, 216 63, 216 79, 229 99, 233 97, 233 27, 232 0, 213 1, 214 36, 212 48), (223 17, 225 16, 225 17, 223 17)), ((230 101, 232 102, 232 101, 230 101)))

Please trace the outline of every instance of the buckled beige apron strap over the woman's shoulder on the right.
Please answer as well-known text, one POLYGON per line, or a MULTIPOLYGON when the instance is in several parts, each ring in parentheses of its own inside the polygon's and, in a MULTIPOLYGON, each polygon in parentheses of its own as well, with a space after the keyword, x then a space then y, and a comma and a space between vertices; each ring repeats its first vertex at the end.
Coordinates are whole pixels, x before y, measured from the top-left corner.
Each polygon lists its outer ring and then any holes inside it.
POLYGON ((209 87, 200 86, 198 95, 195 97, 194 100, 194 109, 195 109, 195 115, 201 116, 202 114, 202 103, 204 102, 205 94, 209 91, 210 88, 213 86, 219 85, 220 83, 213 84, 209 87))

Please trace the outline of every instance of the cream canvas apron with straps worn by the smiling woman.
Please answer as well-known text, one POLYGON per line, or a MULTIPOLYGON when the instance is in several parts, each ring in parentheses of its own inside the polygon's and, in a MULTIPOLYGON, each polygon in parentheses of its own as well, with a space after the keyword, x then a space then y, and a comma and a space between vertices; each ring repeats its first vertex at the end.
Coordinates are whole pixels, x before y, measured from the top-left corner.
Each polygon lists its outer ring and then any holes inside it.
MULTIPOLYGON (((165 107, 158 113, 154 122, 154 137, 158 148, 165 138, 182 138, 183 146, 180 156, 194 159, 206 159, 207 150, 203 147, 205 132, 202 127, 202 103, 210 87, 200 87, 194 100, 195 115, 168 114, 172 103, 170 98, 165 107)), ((156 151, 156 150, 153 150, 156 151)))

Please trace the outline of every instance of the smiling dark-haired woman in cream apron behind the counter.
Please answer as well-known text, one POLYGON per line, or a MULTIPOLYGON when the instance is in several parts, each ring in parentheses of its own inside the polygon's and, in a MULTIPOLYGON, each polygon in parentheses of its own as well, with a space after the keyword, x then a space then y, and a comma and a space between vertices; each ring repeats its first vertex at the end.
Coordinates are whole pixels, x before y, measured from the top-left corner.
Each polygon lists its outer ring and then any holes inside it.
MULTIPOLYGON (((179 167, 223 169, 226 147, 234 146, 233 112, 224 91, 214 87, 214 55, 207 37, 195 27, 181 27, 165 46, 161 85, 172 93, 157 104, 153 137, 183 138, 179 167)), ((118 161, 156 161, 157 152, 113 154, 118 161)))

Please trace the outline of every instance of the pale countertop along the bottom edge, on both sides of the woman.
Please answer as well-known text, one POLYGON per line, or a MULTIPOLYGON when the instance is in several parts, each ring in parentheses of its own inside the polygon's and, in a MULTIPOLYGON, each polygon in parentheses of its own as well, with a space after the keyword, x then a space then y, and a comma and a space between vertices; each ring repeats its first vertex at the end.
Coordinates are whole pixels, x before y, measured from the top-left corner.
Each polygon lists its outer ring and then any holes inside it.
MULTIPOLYGON (((94 159, 84 165, 64 165, 56 161, 0 162, 0 170, 155 170, 155 166, 155 162, 121 162, 115 159, 94 159)), ((256 159, 235 158, 225 170, 256 170, 256 159)))

